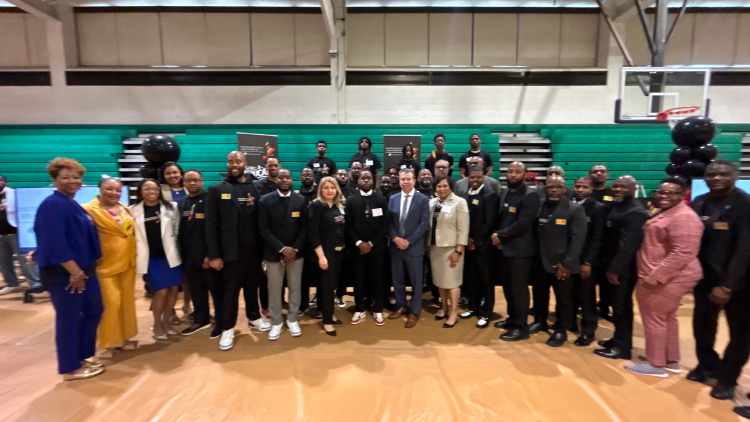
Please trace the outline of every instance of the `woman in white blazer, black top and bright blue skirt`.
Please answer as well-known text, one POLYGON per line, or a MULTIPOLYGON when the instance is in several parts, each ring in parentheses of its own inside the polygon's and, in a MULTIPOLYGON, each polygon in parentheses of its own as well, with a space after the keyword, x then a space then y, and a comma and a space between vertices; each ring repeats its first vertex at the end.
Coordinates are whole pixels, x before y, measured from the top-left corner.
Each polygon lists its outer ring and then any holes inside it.
POLYGON ((180 213, 177 204, 164 199, 159 182, 145 179, 139 188, 141 201, 131 207, 135 220, 136 273, 148 278, 154 293, 154 339, 167 340, 176 335, 171 328, 177 300, 177 286, 182 283, 182 261, 177 248, 180 213))

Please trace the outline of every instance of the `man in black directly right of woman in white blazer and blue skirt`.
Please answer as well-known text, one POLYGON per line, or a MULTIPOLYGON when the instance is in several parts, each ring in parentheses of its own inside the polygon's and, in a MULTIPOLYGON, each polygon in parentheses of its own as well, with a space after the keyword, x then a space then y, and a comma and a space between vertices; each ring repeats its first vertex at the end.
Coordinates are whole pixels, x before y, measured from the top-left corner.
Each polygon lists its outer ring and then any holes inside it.
POLYGON ((211 338, 221 335, 219 319, 222 315, 221 286, 214 277, 214 271, 208 267, 206 249, 206 197, 203 190, 203 175, 198 170, 188 170, 182 176, 188 196, 180 205, 180 229, 177 245, 182 256, 182 267, 185 269, 190 297, 195 308, 193 323, 182 330, 183 336, 189 336, 211 323, 208 294, 214 302, 216 324, 211 331, 211 338))

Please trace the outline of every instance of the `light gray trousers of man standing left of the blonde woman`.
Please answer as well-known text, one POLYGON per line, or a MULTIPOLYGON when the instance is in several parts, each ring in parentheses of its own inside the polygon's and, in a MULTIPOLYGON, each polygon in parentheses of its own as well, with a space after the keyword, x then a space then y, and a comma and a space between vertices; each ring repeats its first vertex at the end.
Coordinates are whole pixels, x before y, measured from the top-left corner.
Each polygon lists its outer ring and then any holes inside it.
POLYGON ((297 321, 302 286, 302 267, 305 260, 300 258, 291 264, 271 261, 264 261, 263 263, 266 266, 266 276, 268 278, 268 309, 271 311, 271 324, 279 325, 284 322, 281 316, 284 275, 286 275, 286 283, 289 287, 289 312, 286 315, 286 319, 289 322, 297 321))

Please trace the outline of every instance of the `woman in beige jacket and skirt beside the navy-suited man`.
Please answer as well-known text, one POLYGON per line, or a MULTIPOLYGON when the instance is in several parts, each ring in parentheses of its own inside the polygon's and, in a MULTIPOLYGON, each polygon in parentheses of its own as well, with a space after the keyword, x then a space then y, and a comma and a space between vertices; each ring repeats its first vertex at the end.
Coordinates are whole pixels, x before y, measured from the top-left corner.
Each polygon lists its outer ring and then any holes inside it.
POLYGON ((430 266, 432 282, 440 289, 443 308, 435 319, 447 318, 443 328, 458 322, 458 293, 463 282, 464 248, 469 243, 469 206, 453 193, 453 180, 441 176, 430 199, 430 266))

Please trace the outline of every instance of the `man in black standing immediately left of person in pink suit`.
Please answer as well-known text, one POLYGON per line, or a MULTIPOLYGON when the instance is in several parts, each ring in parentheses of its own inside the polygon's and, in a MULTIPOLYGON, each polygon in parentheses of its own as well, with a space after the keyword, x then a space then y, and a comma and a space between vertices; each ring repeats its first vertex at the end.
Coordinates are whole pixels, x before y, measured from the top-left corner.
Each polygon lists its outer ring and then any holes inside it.
POLYGON ((648 212, 635 200, 636 181, 621 176, 612 184, 614 202, 604 225, 602 263, 611 288, 615 333, 594 351, 609 359, 630 359, 633 346, 633 289, 638 271, 636 254, 643 241, 648 212))

